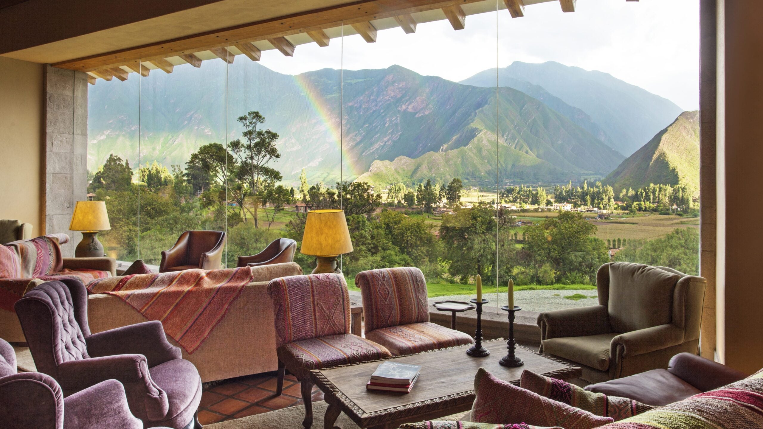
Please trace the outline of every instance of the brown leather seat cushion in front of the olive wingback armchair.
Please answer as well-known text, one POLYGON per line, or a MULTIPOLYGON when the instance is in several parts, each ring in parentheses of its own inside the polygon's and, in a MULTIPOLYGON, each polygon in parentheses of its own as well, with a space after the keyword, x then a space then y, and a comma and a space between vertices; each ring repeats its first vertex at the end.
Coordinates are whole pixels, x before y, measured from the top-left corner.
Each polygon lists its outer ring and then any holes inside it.
POLYGON ((585 389, 604 395, 624 396, 649 405, 668 405, 701 392, 667 369, 652 369, 635 376, 587 385, 585 389))

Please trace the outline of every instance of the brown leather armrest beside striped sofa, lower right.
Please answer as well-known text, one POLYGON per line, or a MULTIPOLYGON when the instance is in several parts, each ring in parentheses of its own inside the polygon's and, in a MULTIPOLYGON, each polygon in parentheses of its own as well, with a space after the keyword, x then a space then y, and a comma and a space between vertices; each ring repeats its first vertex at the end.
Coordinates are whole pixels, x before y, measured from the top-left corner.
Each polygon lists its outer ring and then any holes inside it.
POLYGON ((678 353, 671 357, 668 371, 702 392, 738 382, 747 376, 742 371, 691 353, 678 353))

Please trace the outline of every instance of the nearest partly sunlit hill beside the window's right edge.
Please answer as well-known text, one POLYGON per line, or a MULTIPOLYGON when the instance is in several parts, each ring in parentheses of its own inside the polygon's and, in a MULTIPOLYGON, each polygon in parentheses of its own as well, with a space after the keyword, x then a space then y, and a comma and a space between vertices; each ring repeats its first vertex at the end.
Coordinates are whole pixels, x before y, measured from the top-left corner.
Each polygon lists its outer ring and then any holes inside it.
POLYGON ((684 111, 649 143, 629 156, 603 181, 615 195, 649 183, 700 189, 699 111, 684 111))

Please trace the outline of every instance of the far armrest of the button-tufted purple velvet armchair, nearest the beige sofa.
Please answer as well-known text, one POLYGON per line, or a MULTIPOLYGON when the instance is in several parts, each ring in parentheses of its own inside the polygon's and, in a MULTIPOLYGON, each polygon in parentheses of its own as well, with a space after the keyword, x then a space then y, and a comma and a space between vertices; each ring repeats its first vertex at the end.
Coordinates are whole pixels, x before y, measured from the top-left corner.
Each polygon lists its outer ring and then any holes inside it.
POLYGON ((160 321, 130 324, 86 338, 91 357, 142 354, 149 367, 182 358, 179 347, 169 344, 160 321))

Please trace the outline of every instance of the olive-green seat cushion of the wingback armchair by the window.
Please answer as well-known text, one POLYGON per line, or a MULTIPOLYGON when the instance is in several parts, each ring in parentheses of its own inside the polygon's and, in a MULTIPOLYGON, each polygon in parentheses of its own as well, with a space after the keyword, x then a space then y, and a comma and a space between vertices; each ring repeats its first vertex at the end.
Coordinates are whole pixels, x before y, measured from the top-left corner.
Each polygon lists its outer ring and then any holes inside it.
POLYGON ((606 371, 610 367, 610 344, 617 333, 561 337, 543 340, 543 353, 549 353, 591 368, 606 371))

